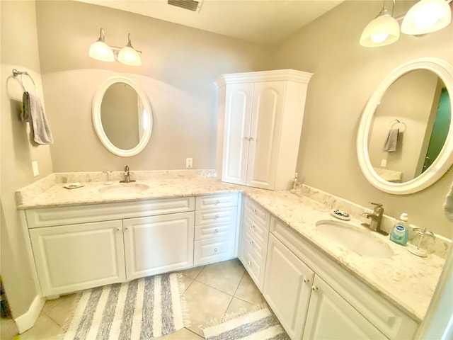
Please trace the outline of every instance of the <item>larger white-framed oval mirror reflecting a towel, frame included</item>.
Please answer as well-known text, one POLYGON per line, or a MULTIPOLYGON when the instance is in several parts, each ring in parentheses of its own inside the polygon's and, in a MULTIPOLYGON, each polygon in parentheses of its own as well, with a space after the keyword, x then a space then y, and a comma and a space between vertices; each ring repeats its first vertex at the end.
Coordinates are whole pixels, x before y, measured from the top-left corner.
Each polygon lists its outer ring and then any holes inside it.
POLYGON ((396 68, 362 113, 357 157, 373 186, 408 194, 435 183, 453 164, 453 67, 423 58, 396 68))

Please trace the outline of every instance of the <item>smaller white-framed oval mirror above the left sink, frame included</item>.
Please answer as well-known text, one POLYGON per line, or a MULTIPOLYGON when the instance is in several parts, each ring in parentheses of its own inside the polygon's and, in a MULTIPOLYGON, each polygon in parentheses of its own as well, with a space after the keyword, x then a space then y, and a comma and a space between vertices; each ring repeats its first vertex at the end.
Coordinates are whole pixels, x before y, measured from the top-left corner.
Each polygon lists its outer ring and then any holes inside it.
POLYGON ((147 95, 127 77, 110 77, 94 96, 93 125, 102 144, 113 154, 138 154, 147 146, 153 126, 147 95))

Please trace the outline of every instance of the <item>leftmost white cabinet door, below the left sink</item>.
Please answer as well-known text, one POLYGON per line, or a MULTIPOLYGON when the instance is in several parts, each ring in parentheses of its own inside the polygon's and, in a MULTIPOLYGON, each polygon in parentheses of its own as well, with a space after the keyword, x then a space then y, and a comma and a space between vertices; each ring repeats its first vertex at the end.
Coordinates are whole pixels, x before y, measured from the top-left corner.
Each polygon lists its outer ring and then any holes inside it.
POLYGON ((30 229, 43 296, 125 280, 121 221, 30 229))

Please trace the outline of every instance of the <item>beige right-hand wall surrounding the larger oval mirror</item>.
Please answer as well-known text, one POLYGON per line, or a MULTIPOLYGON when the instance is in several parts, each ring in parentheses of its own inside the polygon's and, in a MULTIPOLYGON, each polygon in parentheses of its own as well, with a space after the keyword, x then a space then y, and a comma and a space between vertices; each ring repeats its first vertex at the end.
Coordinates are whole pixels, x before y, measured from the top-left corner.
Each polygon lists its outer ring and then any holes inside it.
MULTIPOLYGON (((415 1, 396 1, 395 16, 415 1)), ((382 1, 345 1, 278 46, 273 67, 313 72, 306 98, 297 171, 303 182, 364 206, 384 204, 385 213, 452 238, 442 209, 453 181, 442 179, 419 193, 396 196, 367 182, 356 155, 357 128, 367 100, 398 65, 419 57, 453 64, 453 28, 423 37, 401 34, 392 45, 359 44, 363 28, 379 13, 382 1)))

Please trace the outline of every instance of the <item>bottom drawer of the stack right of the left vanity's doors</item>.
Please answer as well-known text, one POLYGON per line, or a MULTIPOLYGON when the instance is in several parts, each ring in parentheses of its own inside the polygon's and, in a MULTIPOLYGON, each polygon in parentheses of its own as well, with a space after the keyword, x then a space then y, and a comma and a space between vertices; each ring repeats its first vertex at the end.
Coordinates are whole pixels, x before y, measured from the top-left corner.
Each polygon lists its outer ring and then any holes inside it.
POLYGON ((193 265, 200 266, 201 264, 232 259, 235 256, 234 241, 234 234, 229 235, 229 237, 195 241, 193 265))

